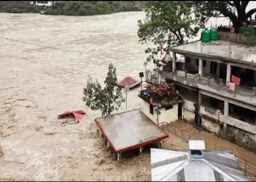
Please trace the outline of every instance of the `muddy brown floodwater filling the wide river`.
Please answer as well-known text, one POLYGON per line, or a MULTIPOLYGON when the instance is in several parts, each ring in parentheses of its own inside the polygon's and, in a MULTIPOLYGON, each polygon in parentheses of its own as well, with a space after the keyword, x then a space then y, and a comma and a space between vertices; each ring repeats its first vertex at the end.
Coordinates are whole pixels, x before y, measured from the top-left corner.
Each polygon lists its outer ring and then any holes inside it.
MULTIPOLYGON (((149 179, 149 154, 113 161, 96 132, 99 112, 82 101, 87 76, 102 82, 109 63, 116 66, 118 79, 138 79, 144 71, 147 46, 137 36, 137 20, 143 17, 143 12, 93 17, 1 14, 1 181, 149 179), (61 125, 56 116, 72 109, 85 109, 89 117, 80 124, 61 125)), ((129 92, 129 109, 140 108, 137 94, 129 92)), ((175 139, 167 146, 178 146, 181 140, 175 139)))

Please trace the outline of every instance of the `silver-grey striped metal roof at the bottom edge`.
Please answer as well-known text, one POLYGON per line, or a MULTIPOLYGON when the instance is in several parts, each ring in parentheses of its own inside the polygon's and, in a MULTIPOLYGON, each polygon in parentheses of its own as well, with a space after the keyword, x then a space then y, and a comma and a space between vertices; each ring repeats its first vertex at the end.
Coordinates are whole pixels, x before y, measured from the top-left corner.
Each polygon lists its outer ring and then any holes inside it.
POLYGON ((151 149, 151 181, 247 181, 230 151, 202 151, 192 159, 189 151, 151 149))

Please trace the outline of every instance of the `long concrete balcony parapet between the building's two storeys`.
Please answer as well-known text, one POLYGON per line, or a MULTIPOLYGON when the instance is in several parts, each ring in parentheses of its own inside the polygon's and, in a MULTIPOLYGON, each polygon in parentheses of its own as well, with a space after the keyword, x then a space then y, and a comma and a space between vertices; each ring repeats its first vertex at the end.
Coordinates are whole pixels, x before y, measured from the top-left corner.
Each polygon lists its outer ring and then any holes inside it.
POLYGON ((175 74, 167 71, 159 72, 161 73, 161 76, 166 79, 171 79, 189 87, 195 87, 206 92, 212 92, 226 98, 240 100, 244 103, 250 103, 256 106, 255 88, 239 86, 236 87, 236 91, 232 91, 222 80, 214 81, 214 79, 205 78, 197 74, 186 74, 185 71, 176 71, 175 74))

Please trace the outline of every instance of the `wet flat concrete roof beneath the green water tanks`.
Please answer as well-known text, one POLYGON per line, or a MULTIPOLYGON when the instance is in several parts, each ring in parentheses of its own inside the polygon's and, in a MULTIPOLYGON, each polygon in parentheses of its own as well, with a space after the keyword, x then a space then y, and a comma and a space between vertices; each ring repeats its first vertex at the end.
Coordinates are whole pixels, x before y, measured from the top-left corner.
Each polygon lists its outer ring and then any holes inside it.
POLYGON ((171 51, 179 54, 191 54, 206 58, 230 60, 237 63, 246 63, 256 66, 256 46, 238 44, 230 41, 193 41, 177 47, 171 47, 171 51), (231 54, 230 54, 231 48, 231 54), (252 60, 254 62, 252 62, 252 60))

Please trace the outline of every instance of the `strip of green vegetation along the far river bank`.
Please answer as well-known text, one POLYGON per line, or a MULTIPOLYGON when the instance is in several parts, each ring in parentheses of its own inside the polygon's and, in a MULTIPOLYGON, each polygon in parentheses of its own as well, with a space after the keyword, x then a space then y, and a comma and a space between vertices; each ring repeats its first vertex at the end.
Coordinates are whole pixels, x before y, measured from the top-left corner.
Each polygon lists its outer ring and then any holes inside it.
POLYGON ((64 1, 52 7, 37 7, 29 1, 1 1, 0 12, 39 13, 45 15, 105 15, 143 9, 143 1, 64 1))

